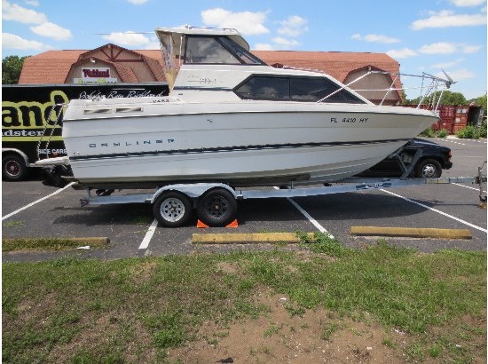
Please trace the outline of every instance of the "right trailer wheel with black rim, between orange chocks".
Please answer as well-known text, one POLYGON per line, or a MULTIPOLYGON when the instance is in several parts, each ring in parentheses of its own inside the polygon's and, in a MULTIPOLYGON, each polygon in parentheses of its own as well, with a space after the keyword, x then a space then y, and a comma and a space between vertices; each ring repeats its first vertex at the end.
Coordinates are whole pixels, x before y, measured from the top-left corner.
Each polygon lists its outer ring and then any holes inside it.
POLYGON ((208 226, 226 226, 235 218, 237 202, 224 188, 215 188, 203 194, 197 204, 197 216, 208 226))

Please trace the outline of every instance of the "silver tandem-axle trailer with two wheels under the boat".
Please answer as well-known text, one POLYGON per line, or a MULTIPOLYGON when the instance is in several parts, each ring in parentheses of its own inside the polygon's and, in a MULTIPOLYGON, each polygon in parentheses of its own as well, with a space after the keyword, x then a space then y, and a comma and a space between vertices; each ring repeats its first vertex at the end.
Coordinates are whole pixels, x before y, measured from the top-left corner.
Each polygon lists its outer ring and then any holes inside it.
POLYGON ((273 189, 234 189, 222 183, 185 183, 162 186, 149 194, 114 194, 115 189, 88 189, 88 196, 80 200, 82 206, 149 203, 153 205, 153 216, 162 226, 184 226, 196 210, 196 215, 207 226, 227 226, 236 217, 237 201, 245 199, 293 198, 326 194, 343 194, 384 188, 447 185, 470 183, 479 186, 479 199, 486 205, 486 176, 478 168, 475 177, 456 178, 346 178, 336 185, 295 187, 279 186, 273 189))

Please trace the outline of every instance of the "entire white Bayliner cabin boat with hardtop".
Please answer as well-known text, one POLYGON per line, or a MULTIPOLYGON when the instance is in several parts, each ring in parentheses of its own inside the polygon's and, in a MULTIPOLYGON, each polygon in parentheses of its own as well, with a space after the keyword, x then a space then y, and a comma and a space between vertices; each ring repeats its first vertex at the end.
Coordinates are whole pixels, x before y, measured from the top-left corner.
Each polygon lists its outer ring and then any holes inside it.
POLYGON ((54 162, 71 165, 78 186, 333 182, 437 121, 433 111, 376 106, 323 73, 270 67, 234 29, 156 34, 169 96, 67 106, 67 157, 54 162))

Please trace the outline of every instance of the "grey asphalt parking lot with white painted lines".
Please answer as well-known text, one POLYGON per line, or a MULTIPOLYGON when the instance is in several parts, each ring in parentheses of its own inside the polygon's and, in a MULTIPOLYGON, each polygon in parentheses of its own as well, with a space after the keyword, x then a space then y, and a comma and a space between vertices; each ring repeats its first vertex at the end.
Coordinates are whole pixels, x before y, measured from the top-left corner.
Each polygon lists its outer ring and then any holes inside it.
MULTIPOLYGON (((453 169, 443 177, 474 176, 486 161, 486 139, 434 139, 453 151, 453 169)), ((486 165, 484 166, 484 174, 486 165)), ((485 186, 484 186, 485 191, 485 186)), ((194 245, 193 233, 332 233, 347 246, 374 243, 376 238, 350 235, 350 226, 436 227, 468 229, 470 240, 388 238, 390 243, 421 251, 486 249, 486 210, 478 207, 476 185, 426 185, 347 194, 239 202, 235 228, 197 228, 196 221, 180 228, 156 226, 152 207, 145 204, 81 207, 83 191, 43 186, 38 178, 2 182, 4 238, 108 237, 106 249, 75 253, 6 253, 3 261, 40 260, 78 254, 119 258, 189 254, 195 251, 272 249, 271 244, 194 245), (39 201, 43 199, 42 201, 39 201), (33 202, 36 202, 32 204, 33 202), (32 204, 32 205, 30 205, 32 204)))

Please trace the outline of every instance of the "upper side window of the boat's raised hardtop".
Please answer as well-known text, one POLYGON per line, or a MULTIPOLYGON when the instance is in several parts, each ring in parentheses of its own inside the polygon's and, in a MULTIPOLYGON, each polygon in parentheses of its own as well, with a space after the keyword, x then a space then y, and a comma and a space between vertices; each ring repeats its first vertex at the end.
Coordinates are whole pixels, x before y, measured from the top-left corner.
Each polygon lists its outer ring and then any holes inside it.
POLYGON ((251 52, 226 36, 187 36, 185 63, 264 65, 251 52))

